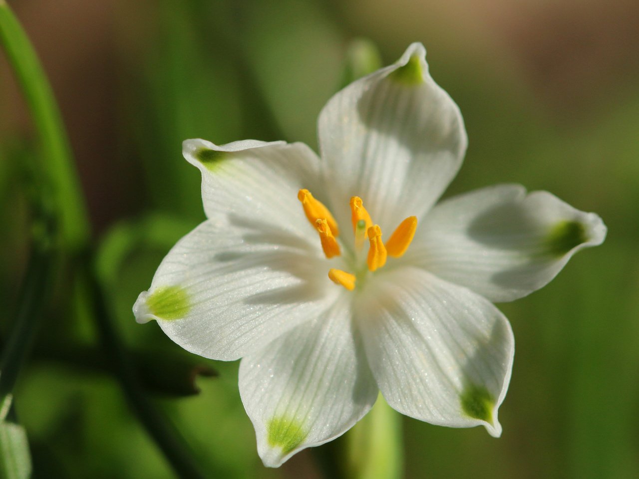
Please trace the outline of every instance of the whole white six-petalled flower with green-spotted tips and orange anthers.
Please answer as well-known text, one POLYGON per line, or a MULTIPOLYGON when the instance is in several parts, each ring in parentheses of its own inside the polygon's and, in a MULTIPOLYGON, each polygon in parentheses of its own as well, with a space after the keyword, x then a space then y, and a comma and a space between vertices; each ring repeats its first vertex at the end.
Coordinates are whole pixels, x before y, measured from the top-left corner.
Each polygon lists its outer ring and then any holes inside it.
POLYGON ((413 418, 500 436, 514 342, 491 301, 539 289, 606 236, 594 213, 519 185, 433 206, 466 133, 425 57, 413 43, 331 98, 321 160, 302 143, 184 142, 208 219, 135 317, 192 353, 242 358, 266 466, 343 434, 378 390, 413 418))

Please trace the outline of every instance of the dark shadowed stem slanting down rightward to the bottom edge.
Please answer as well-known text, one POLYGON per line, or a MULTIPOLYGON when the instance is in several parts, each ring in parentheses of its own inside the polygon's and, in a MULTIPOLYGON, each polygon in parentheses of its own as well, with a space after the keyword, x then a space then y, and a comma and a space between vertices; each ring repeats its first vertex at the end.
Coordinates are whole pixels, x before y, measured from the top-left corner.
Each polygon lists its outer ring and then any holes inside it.
MULTIPOLYGON (((91 261, 85 261, 85 264, 91 264, 91 261)), ((107 307, 104 291, 93 271, 85 273, 102 346, 107 357, 112 361, 114 372, 137 418, 162 450, 176 475, 186 479, 205 478, 206 475, 200 471, 178 430, 153 407, 148 397, 142 392, 135 375, 132 359, 121 346, 121 339, 111 322, 111 314, 107 307)))

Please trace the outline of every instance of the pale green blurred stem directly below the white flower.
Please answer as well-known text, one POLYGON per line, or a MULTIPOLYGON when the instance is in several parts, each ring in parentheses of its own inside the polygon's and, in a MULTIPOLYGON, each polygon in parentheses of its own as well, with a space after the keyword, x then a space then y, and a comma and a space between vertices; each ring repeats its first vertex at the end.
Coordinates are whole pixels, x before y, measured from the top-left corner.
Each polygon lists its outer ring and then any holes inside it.
POLYGON ((401 415, 379 395, 373 409, 346 434, 348 479, 403 476, 401 415))

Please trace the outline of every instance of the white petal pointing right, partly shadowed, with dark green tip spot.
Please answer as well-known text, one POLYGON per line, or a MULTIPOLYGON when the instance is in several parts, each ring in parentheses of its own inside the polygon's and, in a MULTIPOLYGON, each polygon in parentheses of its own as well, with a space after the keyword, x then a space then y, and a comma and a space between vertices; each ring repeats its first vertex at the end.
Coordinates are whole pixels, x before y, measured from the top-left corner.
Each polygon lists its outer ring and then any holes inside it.
POLYGON ((435 206, 403 259, 491 301, 512 301, 546 285, 575 252, 605 236, 594 213, 548 192, 498 185, 435 206))

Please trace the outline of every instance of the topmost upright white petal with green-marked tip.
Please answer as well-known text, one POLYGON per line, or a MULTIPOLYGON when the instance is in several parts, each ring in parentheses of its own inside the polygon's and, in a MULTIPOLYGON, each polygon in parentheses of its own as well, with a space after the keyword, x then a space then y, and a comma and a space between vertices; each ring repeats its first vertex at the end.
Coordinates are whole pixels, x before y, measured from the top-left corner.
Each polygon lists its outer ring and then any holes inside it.
POLYGON ((397 63, 353 82, 322 110, 319 144, 338 221, 348 219, 348 199, 357 195, 390 234, 428 211, 457 173, 463 120, 425 57, 413 43, 397 63))

